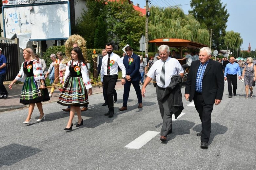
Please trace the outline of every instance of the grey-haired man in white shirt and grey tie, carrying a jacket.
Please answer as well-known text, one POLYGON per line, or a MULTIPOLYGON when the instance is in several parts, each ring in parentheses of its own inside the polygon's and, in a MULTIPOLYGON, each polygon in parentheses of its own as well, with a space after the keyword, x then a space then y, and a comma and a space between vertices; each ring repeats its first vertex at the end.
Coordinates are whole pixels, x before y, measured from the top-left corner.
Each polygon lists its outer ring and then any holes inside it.
POLYGON ((164 103, 162 102, 162 95, 166 87, 171 82, 171 77, 173 75, 181 75, 183 77, 184 70, 182 69, 180 63, 175 58, 168 57, 170 54, 170 49, 167 45, 161 45, 158 48, 160 60, 156 61, 152 67, 149 69, 145 83, 141 89, 142 97, 145 97, 146 86, 150 81, 156 77, 156 96, 160 109, 160 114, 163 118, 163 126, 160 133, 160 140, 165 141, 167 135, 172 132, 171 118, 169 109, 166 110, 164 103))

